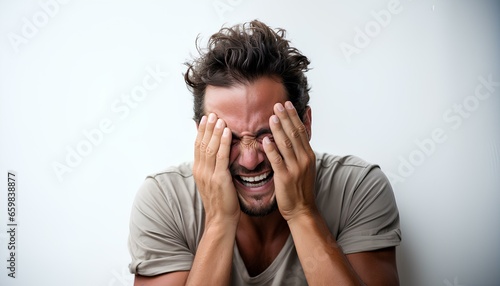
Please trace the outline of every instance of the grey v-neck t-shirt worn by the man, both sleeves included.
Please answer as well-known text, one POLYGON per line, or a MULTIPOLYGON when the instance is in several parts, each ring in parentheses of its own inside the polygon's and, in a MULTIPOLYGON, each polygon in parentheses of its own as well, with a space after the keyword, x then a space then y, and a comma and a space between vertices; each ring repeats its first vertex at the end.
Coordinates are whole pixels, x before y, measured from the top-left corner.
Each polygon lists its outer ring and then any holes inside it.
MULTIPOLYGON (((394 194, 377 165, 354 156, 317 153, 316 173, 317 207, 344 253, 399 245, 394 194)), ((131 273, 153 276, 191 269, 203 228, 192 164, 148 176, 130 218, 131 273)), ((320 262, 307 263, 314 267, 320 262)), ((291 236, 274 262, 255 277, 249 276, 235 244, 231 279, 231 285, 307 285, 291 236)))

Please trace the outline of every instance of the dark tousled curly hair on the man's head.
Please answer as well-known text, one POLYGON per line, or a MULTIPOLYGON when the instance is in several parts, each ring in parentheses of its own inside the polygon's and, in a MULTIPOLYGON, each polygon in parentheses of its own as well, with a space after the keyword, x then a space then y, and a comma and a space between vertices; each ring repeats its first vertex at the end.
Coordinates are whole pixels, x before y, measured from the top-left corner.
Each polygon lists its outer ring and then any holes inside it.
POLYGON ((306 56, 289 45, 286 31, 274 31, 254 20, 222 28, 212 35, 202 50, 196 40, 199 58, 185 63, 184 80, 194 96, 193 119, 204 115, 203 97, 207 85, 230 87, 251 83, 262 76, 277 76, 283 83, 288 100, 303 118, 309 103, 305 72, 310 64, 306 56))

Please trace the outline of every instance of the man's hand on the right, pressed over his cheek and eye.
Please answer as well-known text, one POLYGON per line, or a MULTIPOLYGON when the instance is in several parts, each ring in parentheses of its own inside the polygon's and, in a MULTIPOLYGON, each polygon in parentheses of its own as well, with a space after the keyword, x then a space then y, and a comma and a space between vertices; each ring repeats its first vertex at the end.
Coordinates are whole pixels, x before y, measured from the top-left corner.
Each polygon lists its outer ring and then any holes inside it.
POLYGON ((308 130, 293 104, 287 101, 285 107, 281 103, 274 105, 269 125, 275 144, 264 138, 264 151, 274 170, 279 211, 289 221, 316 212, 316 156, 309 144, 308 130))

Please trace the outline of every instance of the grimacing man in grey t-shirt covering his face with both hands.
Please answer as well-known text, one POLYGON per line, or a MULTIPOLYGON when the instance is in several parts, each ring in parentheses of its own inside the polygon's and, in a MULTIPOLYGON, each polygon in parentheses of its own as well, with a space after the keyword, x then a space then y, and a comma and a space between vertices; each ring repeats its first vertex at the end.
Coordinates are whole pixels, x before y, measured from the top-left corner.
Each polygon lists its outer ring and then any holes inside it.
POLYGON ((135 285, 398 285, 387 178, 315 153, 304 72, 285 31, 252 21, 188 63, 194 162, 149 176, 130 221, 135 285))

